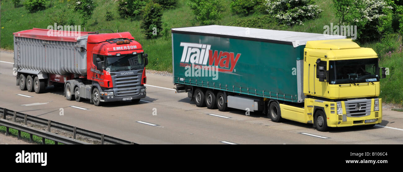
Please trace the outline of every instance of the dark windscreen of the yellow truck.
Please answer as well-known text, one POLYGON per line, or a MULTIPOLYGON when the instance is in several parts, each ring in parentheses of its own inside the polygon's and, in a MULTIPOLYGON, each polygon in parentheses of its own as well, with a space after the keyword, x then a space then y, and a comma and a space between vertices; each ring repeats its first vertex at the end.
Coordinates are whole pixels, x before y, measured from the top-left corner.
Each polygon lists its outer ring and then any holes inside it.
POLYGON ((378 58, 330 60, 330 84, 379 81, 378 58))

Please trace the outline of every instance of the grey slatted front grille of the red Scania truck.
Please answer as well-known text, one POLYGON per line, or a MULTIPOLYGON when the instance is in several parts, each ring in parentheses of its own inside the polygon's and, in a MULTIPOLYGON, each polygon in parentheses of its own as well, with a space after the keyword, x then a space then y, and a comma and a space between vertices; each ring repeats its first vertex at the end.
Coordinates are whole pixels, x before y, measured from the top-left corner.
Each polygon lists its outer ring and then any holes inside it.
POLYGON ((138 95, 140 93, 142 74, 143 70, 132 70, 116 72, 114 75, 111 75, 114 95, 116 97, 138 95), (121 75, 121 73, 126 75, 121 75))

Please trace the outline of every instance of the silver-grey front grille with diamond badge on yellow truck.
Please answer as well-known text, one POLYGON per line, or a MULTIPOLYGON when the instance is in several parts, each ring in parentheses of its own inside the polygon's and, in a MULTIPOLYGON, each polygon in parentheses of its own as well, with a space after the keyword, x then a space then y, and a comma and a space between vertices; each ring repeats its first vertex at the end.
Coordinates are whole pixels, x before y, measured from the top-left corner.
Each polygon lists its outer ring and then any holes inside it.
POLYGON ((355 99, 344 102, 347 116, 362 117, 371 113, 371 99, 355 99))

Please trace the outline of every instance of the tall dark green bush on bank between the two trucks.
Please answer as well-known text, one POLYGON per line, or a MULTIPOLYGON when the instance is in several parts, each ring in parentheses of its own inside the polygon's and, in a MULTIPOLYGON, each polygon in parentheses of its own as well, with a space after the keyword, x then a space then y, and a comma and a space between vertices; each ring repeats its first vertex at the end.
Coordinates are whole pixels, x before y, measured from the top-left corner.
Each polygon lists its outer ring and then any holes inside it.
POLYGON ((160 4, 149 2, 144 7, 143 22, 141 23, 142 32, 147 39, 162 36, 162 11, 160 4))

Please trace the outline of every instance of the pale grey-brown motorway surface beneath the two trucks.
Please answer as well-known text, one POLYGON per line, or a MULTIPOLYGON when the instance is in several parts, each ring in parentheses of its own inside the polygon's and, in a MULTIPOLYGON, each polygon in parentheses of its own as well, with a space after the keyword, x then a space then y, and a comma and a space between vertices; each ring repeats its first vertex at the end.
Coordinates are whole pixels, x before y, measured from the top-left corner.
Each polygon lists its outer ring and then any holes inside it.
POLYGON ((53 87, 42 94, 21 91, 12 75, 12 58, 0 53, 0 107, 139 144, 403 144, 403 112, 384 110, 382 124, 370 128, 319 132, 312 124, 276 123, 261 113, 199 108, 187 93, 175 93, 172 77, 152 74, 147 74, 147 97, 141 102, 97 107, 68 101, 62 89, 53 87))

